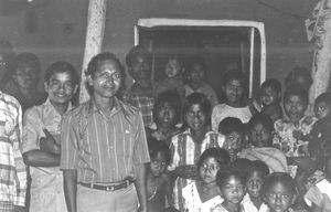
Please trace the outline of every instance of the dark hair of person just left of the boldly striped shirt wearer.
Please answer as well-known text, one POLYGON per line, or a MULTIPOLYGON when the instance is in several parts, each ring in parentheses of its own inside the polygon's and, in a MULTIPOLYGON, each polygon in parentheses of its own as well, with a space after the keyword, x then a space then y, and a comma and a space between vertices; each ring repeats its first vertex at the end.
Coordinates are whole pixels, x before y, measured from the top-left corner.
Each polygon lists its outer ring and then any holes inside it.
POLYGON ((175 91, 166 91, 166 92, 162 92, 160 93, 158 96, 157 96, 157 99, 156 99, 156 103, 154 103, 154 107, 153 107, 153 120, 154 123, 158 123, 158 116, 157 116, 157 113, 159 112, 160 109, 160 106, 164 103, 168 103, 173 109, 174 109, 174 113, 175 113, 175 123, 179 123, 179 120, 181 119, 181 110, 182 110, 182 102, 181 102, 181 97, 179 95, 178 92, 175 91))

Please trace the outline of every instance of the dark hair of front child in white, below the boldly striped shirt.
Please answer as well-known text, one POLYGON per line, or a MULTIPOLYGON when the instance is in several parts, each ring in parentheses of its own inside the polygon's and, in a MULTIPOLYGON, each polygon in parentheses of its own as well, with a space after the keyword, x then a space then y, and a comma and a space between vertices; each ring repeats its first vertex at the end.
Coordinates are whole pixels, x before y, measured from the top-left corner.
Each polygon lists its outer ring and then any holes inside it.
POLYGON ((228 152, 223 148, 209 148, 203 151, 203 153, 200 156, 199 161, 196 163, 197 168, 200 168, 203 163, 203 161, 206 158, 213 157, 218 162, 220 167, 224 167, 228 165, 229 162, 229 155, 228 152))

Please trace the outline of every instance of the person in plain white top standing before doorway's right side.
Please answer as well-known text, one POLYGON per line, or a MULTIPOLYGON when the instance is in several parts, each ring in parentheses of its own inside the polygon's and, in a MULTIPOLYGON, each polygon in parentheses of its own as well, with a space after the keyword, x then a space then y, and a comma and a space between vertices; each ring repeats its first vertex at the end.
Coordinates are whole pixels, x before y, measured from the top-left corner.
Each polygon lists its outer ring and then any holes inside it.
POLYGON ((223 92, 225 104, 216 105, 212 113, 212 128, 218 129, 220 123, 226 117, 239 118, 246 124, 252 115, 256 113, 254 106, 245 98, 245 75, 239 71, 227 72, 224 75, 223 92))

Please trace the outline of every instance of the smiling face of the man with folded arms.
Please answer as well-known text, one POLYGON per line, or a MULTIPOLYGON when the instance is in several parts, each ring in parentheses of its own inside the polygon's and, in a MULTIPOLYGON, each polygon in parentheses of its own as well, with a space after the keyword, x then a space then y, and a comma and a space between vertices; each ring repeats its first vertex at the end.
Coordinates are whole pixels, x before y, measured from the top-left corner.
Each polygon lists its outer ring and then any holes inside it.
POLYGON ((50 100, 55 104, 67 104, 77 91, 68 72, 53 74, 44 86, 50 100))

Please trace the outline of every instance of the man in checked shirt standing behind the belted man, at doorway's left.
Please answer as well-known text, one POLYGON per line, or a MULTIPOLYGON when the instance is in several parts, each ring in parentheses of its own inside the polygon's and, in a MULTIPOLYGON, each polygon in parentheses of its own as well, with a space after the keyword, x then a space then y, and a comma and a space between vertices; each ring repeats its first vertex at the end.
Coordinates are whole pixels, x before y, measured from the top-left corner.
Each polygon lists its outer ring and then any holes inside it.
POLYGON ((151 82, 151 54, 145 47, 137 45, 127 54, 126 62, 135 83, 126 91, 122 99, 138 107, 145 126, 150 127, 153 124, 156 95, 151 82))

